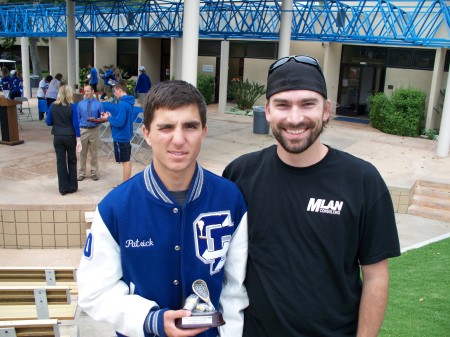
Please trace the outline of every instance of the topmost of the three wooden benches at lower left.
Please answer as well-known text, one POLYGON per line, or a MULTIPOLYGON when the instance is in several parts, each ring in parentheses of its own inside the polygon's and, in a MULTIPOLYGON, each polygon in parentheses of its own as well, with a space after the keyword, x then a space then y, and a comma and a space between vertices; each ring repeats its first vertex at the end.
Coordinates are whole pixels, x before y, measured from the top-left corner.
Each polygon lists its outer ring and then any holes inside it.
POLYGON ((68 286, 78 294, 76 268, 72 267, 0 267, 0 286, 68 286))

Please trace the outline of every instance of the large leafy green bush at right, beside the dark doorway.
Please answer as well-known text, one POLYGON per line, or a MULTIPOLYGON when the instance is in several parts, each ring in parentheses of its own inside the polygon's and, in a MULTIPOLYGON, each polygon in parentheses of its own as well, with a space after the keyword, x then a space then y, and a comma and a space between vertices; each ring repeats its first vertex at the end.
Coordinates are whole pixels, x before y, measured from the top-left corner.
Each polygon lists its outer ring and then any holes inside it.
POLYGON ((391 99, 384 93, 370 96, 370 123, 384 133, 416 137, 424 120, 425 97, 414 88, 397 89, 391 99))

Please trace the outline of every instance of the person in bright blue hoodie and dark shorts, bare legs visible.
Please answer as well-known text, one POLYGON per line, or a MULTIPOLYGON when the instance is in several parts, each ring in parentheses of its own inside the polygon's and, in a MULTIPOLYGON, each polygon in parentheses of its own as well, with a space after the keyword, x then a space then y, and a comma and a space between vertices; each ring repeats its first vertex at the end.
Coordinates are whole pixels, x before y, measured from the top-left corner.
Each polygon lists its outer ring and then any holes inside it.
POLYGON ((125 182, 131 177, 130 141, 133 137, 134 97, 127 95, 127 86, 123 82, 118 82, 114 85, 114 96, 119 100, 119 105, 114 115, 107 111, 102 116, 102 119, 111 124, 112 138, 114 140, 114 155, 116 162, 122 163, 122 182, 125 182))

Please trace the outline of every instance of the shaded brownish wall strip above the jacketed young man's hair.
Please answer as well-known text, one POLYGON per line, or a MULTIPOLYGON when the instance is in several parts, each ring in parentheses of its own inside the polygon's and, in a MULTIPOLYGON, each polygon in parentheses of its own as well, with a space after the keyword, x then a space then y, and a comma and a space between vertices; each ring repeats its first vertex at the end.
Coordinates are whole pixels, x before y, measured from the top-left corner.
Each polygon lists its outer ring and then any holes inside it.
POLYGON ((161 73, 161 39, 139 39, 139 66, 144 66, 152 85, 159 82, 161 73))

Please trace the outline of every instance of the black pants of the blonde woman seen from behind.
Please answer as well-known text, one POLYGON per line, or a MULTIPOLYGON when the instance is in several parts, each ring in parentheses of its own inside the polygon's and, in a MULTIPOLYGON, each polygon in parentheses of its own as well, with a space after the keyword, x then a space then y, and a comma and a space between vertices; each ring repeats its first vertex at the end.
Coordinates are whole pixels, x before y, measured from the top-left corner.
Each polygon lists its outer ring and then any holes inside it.
POLYGON ((73 193, 78 190, 77 181, 77 139, 75 136, 54 136, 56 170, 60 193, 73 193))

